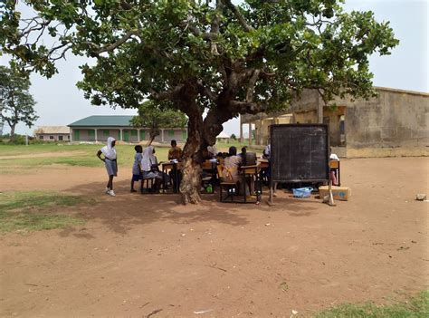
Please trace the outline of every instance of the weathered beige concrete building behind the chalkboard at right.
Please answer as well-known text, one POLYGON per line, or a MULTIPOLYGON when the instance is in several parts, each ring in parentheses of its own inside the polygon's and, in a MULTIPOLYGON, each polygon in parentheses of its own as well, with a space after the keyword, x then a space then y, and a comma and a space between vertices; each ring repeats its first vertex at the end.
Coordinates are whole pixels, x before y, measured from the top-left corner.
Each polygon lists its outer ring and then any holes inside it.
POLYGON ((317 91, 304 91, 286 111, 242 115, 240 138, 244 124, 249 136, 254 131, 256 145, 266 145, 272 124, 326 123, 330 146, 342 157, 429 156, 429 94, 376 91, 368 101, 338 97, 335 107, 325 106, 317 91))

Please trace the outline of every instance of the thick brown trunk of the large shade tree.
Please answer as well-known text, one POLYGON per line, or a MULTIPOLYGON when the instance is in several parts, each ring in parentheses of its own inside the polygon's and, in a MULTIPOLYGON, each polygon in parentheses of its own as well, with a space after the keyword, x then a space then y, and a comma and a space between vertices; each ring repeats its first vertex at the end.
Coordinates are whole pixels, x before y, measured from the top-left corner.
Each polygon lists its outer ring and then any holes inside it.
POLYGON ((183 204, 199 203, 201 201, 201 163, 202 156, 200 145, 203 141, 202 133, 203 114, 198 107, 191 107, 186 111, 189 118, 187 127, 187 140, 183 150, 182 160, 182 181, 180 182, 180 192, 183 204))

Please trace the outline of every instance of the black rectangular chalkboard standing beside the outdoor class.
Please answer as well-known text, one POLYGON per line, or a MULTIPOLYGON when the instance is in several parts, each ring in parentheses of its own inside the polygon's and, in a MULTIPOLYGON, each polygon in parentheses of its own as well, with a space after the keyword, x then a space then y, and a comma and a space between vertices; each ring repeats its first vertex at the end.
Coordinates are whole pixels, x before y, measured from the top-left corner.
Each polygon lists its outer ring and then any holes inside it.
POLYGON ((272 125, 270 161, 272 182, 328 181, 328 125, 272 125))

